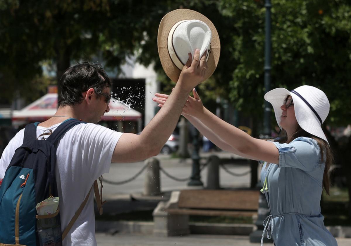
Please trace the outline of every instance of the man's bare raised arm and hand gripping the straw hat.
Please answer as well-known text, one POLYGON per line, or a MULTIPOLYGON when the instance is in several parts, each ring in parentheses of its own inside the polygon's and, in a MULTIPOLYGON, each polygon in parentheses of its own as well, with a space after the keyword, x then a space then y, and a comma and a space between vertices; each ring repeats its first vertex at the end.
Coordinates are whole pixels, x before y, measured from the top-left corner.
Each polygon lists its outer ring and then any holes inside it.
POLYGON ((121 136, 114 149, 112 162, 137 162, 158 155, 176 127, 190 91, 204 80, 206 53, 201 59, 199 54, 199 49, 196 49, 193 61, 189 54, 189 59, 167 102, 141 134, 125 133, 121 136))

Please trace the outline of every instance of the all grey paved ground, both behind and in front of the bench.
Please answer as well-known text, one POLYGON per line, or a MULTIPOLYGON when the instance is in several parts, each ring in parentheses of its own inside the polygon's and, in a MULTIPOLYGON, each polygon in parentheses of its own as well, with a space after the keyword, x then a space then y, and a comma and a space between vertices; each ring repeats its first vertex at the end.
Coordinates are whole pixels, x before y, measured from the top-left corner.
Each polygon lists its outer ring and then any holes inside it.
MULTIPOLYGON (((220 158, 237 158, 237 156, 227 152, 201 153, 201 157, 209 155, 218 155, 220 158)), ((178 178, 189 177, 191 174, 192 161, 187 159, 180 162, 179 159, 172 159, 169 156, 159 155, 156 157, 160 160, 160 165, 170 174, 178 178)), ((110 173, 104 175, 104 179, 119 182, 134 176, 142 167, 144 162, 138 163, 113 163, 110 168, 110 173)), ((230 171, 235 173, 244 173, 250 170, 248 164, 227 165, 230 171)), ((187 182, 178 182, 163 173, 160 175, 160 187, 162 194, 160 196, 147 197, 143 195, 145 186, 146 171, 135 178, 132 182, 123 185, 111 185, 104 183, 104 199, 109 200, 104 205, 104 215, 119 214, 131 211, 146 211, 153 210, 160 200, 168 200, 171 191, 180 189, 193 189, 187 186, 187 182)), ((234 177, 222 168, 220 168, 220 186, 223 188, 249 187, 250 174, 241 177, 234 177)), ((201 180, 204 185, 207 182, 207 169, 201 172, 201 180)), ((99 219, 99 216, 97 216, 99 219)), ((247 236, 233 235, 186 235, 183 237, 154 237, 153 235, 141 234, 125 234, 116 233, 96 234, 98 245, 101 246, 259 246, 259 243, 251 244, 247 236)), ((351 238, 337 238, 339 246, 350 246, 351 238)), ((272 246, 272 244, 264 244, 272 246)))

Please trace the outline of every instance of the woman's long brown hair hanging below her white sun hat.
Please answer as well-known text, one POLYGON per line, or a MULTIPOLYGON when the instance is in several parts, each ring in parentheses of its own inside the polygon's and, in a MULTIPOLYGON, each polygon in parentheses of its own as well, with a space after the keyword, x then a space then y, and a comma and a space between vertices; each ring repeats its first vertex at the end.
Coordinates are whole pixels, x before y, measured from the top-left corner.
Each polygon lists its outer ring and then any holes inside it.
POLYGON ((290 143, 293 139, 298 137, 309 137, 317 141, 320 149, 320 154, 322 156, 321 162, 324 163, 325 161, 325 167, 324 167, 324 173, 323 173, 323 189, 329 195, 329 187, 330 187, 329 169, 333 163, 333 153, 331 151, 329 144, 324 139, 316 137, 306 132, 299 125, 297 126, 296 131, 294 132, 294 134, 292 134, 290 139, 287 138, 286 132, 284 130, 282 130, 282 132, 283 132, 283 136, 279 138, 278 140, 279 143, 290 143))

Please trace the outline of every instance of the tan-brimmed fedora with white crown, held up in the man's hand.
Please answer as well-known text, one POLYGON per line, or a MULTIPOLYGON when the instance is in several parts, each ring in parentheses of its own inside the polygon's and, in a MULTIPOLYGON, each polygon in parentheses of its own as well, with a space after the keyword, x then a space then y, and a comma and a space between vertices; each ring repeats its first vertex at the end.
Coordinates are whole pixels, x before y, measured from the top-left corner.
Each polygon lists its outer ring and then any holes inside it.
POLYGON ((217 67, 220 53, 219 36, 213 23, 206 16, 190 10, 176 9, 166 14, 159 25, 157 35, 158 54, 166 75, 178 81, 181 69, 200 49, 200 57, 207 52, 205 80, 217 67))

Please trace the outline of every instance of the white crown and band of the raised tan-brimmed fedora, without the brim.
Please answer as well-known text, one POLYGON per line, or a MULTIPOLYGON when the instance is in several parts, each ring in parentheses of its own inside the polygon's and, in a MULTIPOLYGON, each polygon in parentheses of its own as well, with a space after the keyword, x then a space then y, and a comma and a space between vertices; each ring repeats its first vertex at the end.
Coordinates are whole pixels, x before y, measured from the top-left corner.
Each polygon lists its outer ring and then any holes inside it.
POLYGON ((199 20, 182 20, 170 30, 167 39, 168 53, 173 63, 180 70, 188 60, 188 53, 194 58, 196 48, 200 49, 200 57, 207 50, 206 61, 210 57, 211 29, 199 20))

